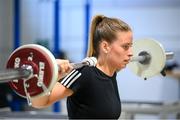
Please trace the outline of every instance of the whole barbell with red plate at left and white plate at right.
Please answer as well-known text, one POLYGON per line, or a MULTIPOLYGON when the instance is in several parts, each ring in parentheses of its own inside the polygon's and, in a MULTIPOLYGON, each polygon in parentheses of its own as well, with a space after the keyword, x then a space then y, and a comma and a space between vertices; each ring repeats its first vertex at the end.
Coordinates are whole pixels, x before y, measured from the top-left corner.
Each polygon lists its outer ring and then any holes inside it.
MULTIPOLYGON (((144 79, 159 74, 173 52, 165 52, 156 40, 144 39, 133 42, 133 57, 128 67, 144 79)), ((95 66, 96 58, 85 58, 80 63, 71 63, 74 69, 85 65, 95 66)), ((45 47, 27 44, 17 48, 8 58, 6 70, 0 71, 0 82, 8 82, 10 87, 21 97, 31 98, 50 94, 58 79, 55 57, 45 47)))

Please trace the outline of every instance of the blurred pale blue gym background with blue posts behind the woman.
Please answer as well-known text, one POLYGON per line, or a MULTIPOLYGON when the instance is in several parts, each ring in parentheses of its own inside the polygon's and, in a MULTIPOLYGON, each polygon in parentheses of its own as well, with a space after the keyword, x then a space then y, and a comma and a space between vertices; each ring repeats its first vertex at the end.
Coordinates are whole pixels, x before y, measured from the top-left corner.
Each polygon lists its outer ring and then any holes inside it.
MULTIPOLYGON (((15 48, 30 43, 46 46, 56 58, 63 52, 72 62, 81 61, 86 55, 89 23, 95 14, 126 21, 133 29, 134 40, 152 38, 161 42, 166 50, 175 53, 169 62, 180 64, 179 0, 0 0, 0 69, 5 69, 15 48)), ((144 81, 128 68, 119 72, 117 79, 125 104, 122 117, 176 118, 178 111, 158 113, 153 112, 153 107, 179 102, 180 80, 159 75, 144 81), (139 111, 133 111, 136 107, 139 111)), ((65 100, 47 109, 26 106, 14 111, 67 114, 65 100)))

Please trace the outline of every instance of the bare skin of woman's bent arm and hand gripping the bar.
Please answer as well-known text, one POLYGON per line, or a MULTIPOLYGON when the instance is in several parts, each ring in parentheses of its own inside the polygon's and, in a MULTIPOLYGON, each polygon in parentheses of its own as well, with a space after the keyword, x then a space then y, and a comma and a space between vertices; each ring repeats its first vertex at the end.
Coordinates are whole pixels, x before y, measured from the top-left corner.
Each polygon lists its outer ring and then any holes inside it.
MULTIPOLYGON (((66 76, 71 70, 72 66, 69 64, 68 60, 60 60, 57 59, 57 64, 60 66, 60 70, 58 71, 57 81, 66 76)), ((50 95, 38 96, 35 98, 31 98, 32 107, 34 108, 44 108, 52 105, 58 100, 61 100, 64 97, 71 95, 73 92, 64 86, 62 86, 59 82, 57 82, 53 89, 50 90, 50 95)))

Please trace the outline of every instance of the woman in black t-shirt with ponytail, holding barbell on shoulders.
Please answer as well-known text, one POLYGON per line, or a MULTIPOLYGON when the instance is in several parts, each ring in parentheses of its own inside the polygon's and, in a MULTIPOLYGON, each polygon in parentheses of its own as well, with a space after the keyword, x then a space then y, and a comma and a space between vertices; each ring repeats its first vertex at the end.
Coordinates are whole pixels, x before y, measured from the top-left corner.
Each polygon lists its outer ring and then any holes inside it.
MULTIPOLYGON (((125 22, 97 15, 90 31, 88 56, 97 58, 95 67, 71 71, 58 82, 51 95, 33 100, 34 107, 44 107, 67 97, 69 118, 118 119, 121 103, 116 72, 125 68, 132 57, 132 31, 125 22)), ((68 61, 57 61, 64 71, 71 70, 68 61), (62 64, 63 62, 63 64, 62 64)))

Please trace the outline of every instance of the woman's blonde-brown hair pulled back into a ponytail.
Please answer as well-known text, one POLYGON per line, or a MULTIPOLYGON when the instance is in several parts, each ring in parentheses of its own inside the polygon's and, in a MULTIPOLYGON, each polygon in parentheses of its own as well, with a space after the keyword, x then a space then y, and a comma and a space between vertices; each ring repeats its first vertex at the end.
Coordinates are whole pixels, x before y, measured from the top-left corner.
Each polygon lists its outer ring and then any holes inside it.
POLYGON ((112 43, 118 31, 131 31, 128 24, 117 18, 108 18, 104 15, 93 17, 90 27, 88 57, 98 57, 99 44, 102 40, 112 43))

